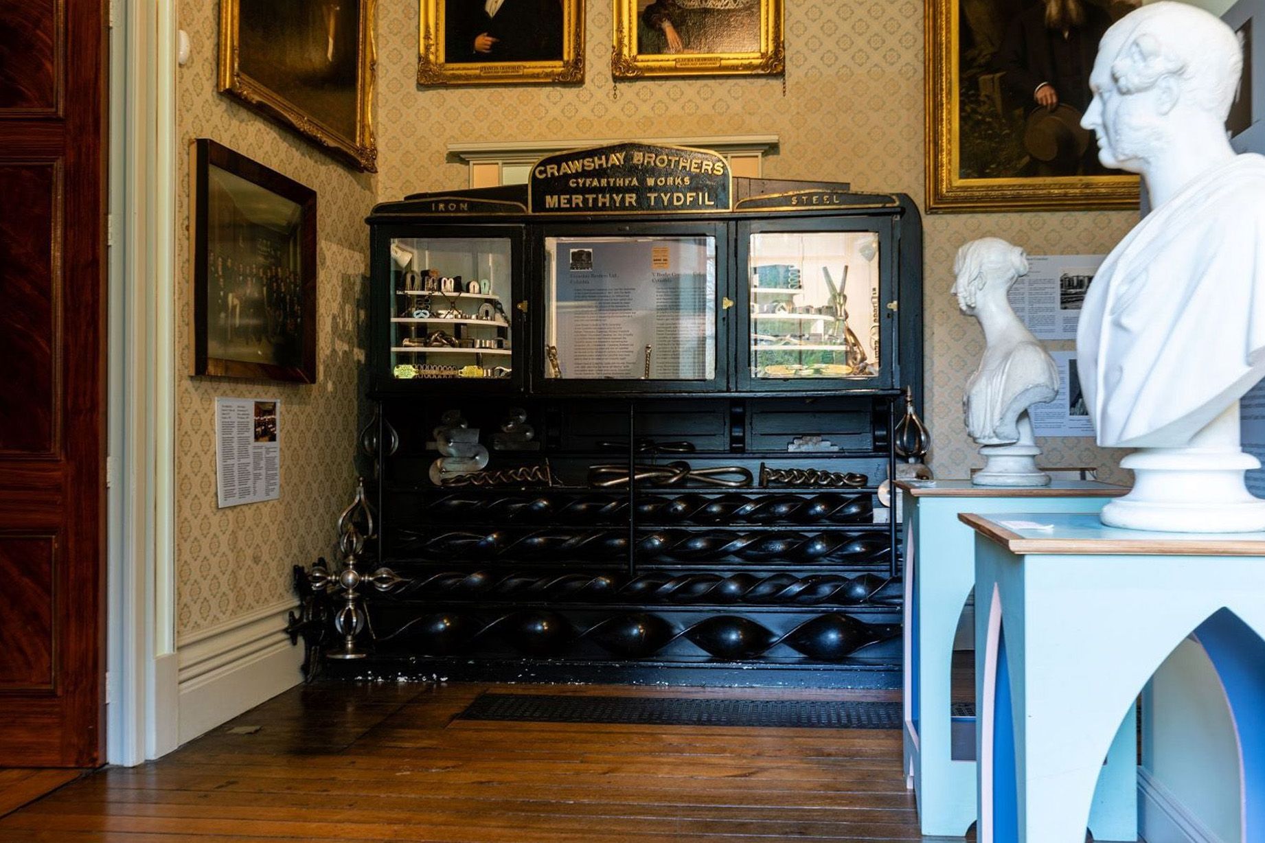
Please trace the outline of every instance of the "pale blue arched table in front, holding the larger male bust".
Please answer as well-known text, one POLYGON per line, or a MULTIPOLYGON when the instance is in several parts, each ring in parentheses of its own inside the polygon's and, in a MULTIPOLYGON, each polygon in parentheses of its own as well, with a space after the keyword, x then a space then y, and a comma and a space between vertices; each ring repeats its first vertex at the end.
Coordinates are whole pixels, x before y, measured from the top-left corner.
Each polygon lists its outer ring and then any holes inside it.
MULTIPOLYGON (((1265 840, 1265 533, 1152 533, 1045 512, 961 519, 977 532, 980 843, 1083 840, 1103 757, 1123 737, 1136 752, 1122 718, 1192 634, 1237 731, 1242 839, 1265 840)), ((1127 785, 1136 792, 1136 770, 1127 785)))

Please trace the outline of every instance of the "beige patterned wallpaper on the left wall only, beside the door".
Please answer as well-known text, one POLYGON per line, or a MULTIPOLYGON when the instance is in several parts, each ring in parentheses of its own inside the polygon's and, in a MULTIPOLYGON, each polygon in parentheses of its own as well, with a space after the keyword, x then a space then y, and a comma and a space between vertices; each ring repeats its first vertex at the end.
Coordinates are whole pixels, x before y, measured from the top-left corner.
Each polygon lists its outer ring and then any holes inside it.
POLYGON ((180 143, 211 138, 318 192, 316 384, 191 378, 190 161, 181 159, 177 229, 176 603, 177 636, 291 599, 290 570, 328 555, 354 492, 354 444, 367 326, 364 216, 374 178, 353 173, 215 90, 219 4, 182 0, 192 43, 178 70, 180 143), (281 498, 216 508, 215 398, 281 399, 281 498))

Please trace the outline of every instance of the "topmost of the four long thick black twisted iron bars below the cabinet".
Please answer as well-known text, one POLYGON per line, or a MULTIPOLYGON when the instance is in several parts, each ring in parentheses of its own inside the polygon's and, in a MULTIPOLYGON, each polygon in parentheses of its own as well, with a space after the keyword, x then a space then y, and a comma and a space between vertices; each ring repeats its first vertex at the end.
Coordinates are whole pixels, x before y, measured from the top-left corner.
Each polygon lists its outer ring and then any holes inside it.
MULTIPOLYGON (((469 476, 469 475, 467 475, 469 476)), ((627 498, 591 493, 584 495, 541 494, 531 498, 449 494, 431 502, 428 516, 444 523, 509 521, 565 525, 602 525, 627 521, 627 498)), ((775 525, 792 522, 869 523, 874 503, 868 494, 722 494, 708 497, 683 493, 674 497, 643 495, 636 502, 638 522, 646 526, 775 525)))

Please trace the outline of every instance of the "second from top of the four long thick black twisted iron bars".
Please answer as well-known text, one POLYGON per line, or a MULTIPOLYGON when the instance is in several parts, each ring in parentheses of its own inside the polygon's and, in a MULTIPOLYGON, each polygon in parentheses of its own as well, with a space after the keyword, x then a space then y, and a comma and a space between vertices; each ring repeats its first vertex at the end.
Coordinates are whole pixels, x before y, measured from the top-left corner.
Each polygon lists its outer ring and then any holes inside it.
MULTIPOLYGON (((429 559, 583 559, 610 561, 627 551, 627 533, 621 530, 555 531, 526 533, 401 530, 401 552, 429 559)), ((681 561, 720 560, 729 556, 750 562, 839 562, 865 564, 884 557, 889 549, 883 533, 759 532, 729 530, 689 532, 659 530, 638 538, 641 559, 681 561)))

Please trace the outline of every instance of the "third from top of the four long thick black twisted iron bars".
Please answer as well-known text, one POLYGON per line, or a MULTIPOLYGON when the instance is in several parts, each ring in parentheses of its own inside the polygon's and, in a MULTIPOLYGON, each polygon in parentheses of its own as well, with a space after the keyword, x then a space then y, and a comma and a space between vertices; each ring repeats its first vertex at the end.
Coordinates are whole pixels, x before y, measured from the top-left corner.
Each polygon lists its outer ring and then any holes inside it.
POLYGON ((531 571, 440 571, 410 579, 397 598, 433 600, 569 600, 592 603, 705 603, 858 605, 899 599, 899 584, 874 574, 619 574, 544 575, 531 571))

